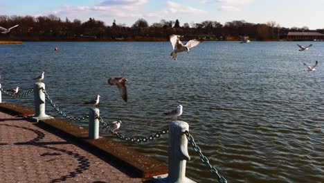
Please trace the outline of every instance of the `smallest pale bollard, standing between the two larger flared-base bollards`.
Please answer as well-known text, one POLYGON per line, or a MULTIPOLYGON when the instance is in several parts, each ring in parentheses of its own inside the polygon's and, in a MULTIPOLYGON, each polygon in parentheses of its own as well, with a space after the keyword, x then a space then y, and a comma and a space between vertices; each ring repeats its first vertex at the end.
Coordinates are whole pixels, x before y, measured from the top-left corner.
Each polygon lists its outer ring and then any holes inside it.
POLYGON ((89 111, 89 139, 99 138, 99 117, 99 109, 91 108, 89 111))

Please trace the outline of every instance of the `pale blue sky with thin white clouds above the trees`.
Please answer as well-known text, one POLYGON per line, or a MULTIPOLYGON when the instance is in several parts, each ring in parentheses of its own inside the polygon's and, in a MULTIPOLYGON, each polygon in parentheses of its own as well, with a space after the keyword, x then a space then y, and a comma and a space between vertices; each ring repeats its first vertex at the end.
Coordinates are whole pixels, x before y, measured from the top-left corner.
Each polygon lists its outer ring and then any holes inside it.
POLYGON ((143 18, 149 24, 161 19, 183 23, 205 20, 245 20, 251 23, 276 21, 280 26, 324 28, 324 0, 0 0, 0 15, 56 15, 61 19, 89 17, 111 25, 132 26, 143 18))

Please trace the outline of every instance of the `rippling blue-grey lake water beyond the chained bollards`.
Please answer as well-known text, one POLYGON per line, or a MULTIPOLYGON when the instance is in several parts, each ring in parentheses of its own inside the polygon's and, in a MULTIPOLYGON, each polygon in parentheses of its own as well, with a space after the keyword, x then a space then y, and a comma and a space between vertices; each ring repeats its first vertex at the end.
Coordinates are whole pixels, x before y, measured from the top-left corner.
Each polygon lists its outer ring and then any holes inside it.
MULTIPOLYGON (((324 42, 203 42, 177 61, 171 51, 170 42, 0 45, 1 84, 26 92, 45 71, 46 90, 64 112, 84 116, 82 103, 100 94, 103 119, 120 119, 119 131, 134 137, 164 128, 172 119, 163 112, 181 104, 179 120, 228 182, 324 182, 324 42), (315 60, 316 71, 306 71, 302 62, 315 60), (128 103, 107 85, 118 76, 129 80, 128 103)), ((3 101, 33 107, 33 95, 3 101)), ((58 116, 48 104, 46 111, 58 116)), ((125 144, 167 162, 167 140, 125 144)), ((188 147, 187 177, 216 182, 188 147)))

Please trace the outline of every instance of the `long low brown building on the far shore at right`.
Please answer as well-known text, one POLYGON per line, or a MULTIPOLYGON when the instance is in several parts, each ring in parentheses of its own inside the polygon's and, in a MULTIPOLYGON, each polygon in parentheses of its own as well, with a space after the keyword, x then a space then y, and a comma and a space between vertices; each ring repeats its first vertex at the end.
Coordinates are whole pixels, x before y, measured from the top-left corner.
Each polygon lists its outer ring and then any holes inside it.
POLYGON ((289 32, 287 41, 324 40, 324 34, 315 32, 289 32))

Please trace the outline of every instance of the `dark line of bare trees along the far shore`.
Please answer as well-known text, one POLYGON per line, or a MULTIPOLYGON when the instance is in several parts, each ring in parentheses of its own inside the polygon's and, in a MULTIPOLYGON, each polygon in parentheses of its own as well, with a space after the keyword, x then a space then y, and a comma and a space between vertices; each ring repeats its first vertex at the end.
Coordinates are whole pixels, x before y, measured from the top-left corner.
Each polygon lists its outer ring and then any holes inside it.
MULTIPOLYGON (((132 26, 117 24, 116 20, 110 26, 103 21, 89 18, 87 21, 66 17, 62 20, 55 15, 48 16, 0 16, 0 26, 13 28, 8 34, 1 34, 1 40, 168 40, 169 35, 185 35, 192 37, 205 37, 210 40, 237 40, 242 36, 249 36, 251 40, 280 40, 285 38, 289 31, 313 31, 306 26, 303 28, 280 27, 276 21, 265 24, 253 24, 244 20, 228 21, 224 25, 218 21, 201 21, 200 23, 184 23, 182 26, 178 19, 166 21, 161 19, 152 25, 145 19, 138 19, 132 26), (136 38, 137 37, 137 38, 136 38), (139 38, 138 38, 139 37, 139 38), (140 39, 142 38, 142 39, 140 39)), ((324 33, 324 29, 316 30, 324 33)))

